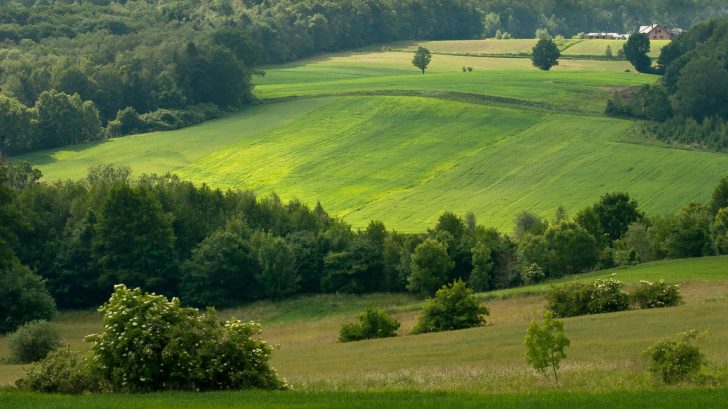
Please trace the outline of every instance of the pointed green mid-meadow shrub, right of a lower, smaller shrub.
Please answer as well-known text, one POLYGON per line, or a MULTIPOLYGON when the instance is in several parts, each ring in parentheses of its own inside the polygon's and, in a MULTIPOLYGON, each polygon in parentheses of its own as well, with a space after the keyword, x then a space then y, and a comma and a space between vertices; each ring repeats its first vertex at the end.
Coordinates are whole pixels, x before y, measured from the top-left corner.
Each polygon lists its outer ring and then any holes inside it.
POLYGON ((485 324, 488 308, 462 280, 446 284, 422 309, 414 334, 479 327, 485 324))

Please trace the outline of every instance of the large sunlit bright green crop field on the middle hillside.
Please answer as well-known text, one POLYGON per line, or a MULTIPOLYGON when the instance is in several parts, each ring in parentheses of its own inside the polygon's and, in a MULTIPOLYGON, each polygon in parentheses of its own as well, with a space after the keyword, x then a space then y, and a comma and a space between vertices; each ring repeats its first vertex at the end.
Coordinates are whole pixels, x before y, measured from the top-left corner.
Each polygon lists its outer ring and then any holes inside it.
POLYGON ((574 214, 609 191, 672 212, 707 200, 728 169, 725 154, 625 142, 636 124, 602 114, 608 91, 656 80, 626 62, 563 60, 541 72, 524 58, 435 55, 422 75, 410 60, 357 52, 268 67, 255 80, 263 103, 222 119, 17 159, 47 180, 99 163, 175 172, 320 200, 355 227, 378 219, 400 231, 446 210, 510 229, 521 210, 574 214))

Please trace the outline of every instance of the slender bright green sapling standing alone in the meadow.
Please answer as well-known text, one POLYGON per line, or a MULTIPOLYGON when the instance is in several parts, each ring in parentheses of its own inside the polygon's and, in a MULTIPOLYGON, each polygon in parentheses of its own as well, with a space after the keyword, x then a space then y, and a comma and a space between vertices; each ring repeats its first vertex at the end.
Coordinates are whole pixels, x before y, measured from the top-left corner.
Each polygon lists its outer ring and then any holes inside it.
POLYGON ((547 370, 551 367, 558 382, 559 363, 566 358, 564 349, 571 344, 571 341, 564 336, 564 323, 555 319, 551 311, 546 311, 540 324, 536 320, 531 321, 524 343, 526 361, 547 378, 549 376, 547 370))

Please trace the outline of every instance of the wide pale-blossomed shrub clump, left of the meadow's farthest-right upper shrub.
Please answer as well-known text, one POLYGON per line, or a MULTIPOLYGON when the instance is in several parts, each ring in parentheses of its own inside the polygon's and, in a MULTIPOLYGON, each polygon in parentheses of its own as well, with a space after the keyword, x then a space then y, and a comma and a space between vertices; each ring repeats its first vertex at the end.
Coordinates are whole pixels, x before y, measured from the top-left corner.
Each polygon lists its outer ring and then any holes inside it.
POLYGON ((624 283, 614 278, 554 286, 546 295, 546 308, 559 318, 624 311, 629 295, 623 288, 624 283))

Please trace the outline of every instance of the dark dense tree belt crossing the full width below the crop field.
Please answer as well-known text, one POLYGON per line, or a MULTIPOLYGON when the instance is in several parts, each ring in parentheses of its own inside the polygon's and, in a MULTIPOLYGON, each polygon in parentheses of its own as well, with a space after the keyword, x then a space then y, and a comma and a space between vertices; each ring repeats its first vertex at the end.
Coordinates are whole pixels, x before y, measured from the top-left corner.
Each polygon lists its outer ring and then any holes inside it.
POLYGON ((132 178, 126 168, 99 166, 80 181, 42 183, 27 164, 2 172, 3 280, 25 280, 38 294, 45 285, 62 308, 98 305, 118 283, 227 307, 330 292, 426 296, 458 279, 486 291, 728 253, 728 178, 710 205, 690 203, 674 215, 647 217, 627 194, 613 193, 573 219, 525 211, 512 234, 449 212, 426 232, 404 234, 376 221, 354 230, 320 205, 173 175, 132 178))

